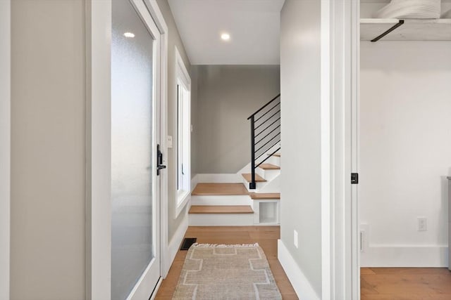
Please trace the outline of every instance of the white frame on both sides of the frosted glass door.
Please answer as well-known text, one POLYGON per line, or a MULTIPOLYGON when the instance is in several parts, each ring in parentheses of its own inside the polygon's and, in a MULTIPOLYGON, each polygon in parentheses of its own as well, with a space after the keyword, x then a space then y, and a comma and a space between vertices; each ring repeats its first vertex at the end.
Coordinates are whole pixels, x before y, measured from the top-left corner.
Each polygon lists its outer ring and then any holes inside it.
MULTIPOLYGON (((166 164, 168 27, 144 0, 161 34, 161 151, 166 164)), ((86 2, 86 298, 111 299, 111 0, 86 2)), ((161 275, 167 253, 168 176, 161 172, 161 275)))

